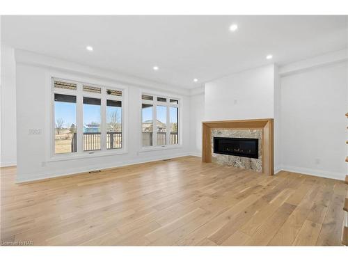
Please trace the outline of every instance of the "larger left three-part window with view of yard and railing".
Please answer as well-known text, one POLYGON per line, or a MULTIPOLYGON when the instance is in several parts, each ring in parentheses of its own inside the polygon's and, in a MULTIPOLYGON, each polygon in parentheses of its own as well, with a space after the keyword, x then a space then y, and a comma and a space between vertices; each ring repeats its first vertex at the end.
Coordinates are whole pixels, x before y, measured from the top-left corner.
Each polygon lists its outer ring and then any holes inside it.
POLYGON ((54 154, 122 149, 122 90, 53 80, 54 154))

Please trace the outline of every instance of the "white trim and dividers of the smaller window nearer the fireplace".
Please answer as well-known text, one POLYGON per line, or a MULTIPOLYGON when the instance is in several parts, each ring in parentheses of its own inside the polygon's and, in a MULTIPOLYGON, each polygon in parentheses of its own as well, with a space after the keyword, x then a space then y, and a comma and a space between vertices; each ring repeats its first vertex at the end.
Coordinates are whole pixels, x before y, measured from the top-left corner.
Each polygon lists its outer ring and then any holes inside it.
POLYGON ((140 111, 140 144, 139 144, 139 152, 151 152, 151 151, 156 151, 156 150, 173 150, 173 149, 179 149, 182 148, 182 97, 180 96, 173 96, 171 94, 168 93, 160 93, 160 92, 156 92, 156 91, 152 91, 152 90, 141 90, 140 92, 140 105, 139 105, 139 111, 140 111), (143 100, 142 99, 142 95, 150 95, 153 96, 154 100, 150 101, 150 100, 143 100), (167 102, 157 102, 157 97, 163 97, 167 99, 167 102), (173 104, 170 103, 170 100, 177 100, 178 104, 173 104), (157 141, 157 109, 156 106, 167 106, 167 135, 166 135, 166 145, 151 145, 151 146, 143 146, 143 115, 142 115, 142 104, 153 104, 154 105, 154 109, 152 110, 152 127, 153 127, 153 134, 154 136, 152 136, 152 139, 157 141), (179 129, 177 131, 177 134, 179 135, 178 137, 178 141, 177 144, 169 144, 170 142, 170 135, 168 135, 168 132, 170 133, 170 129, 169 129, 169 125, 168 122, 170 123, 170 110, 168 109, 168 107, 176 107, 177 108, 177 113, 178 113, 178 125, 179 125, 179 129))

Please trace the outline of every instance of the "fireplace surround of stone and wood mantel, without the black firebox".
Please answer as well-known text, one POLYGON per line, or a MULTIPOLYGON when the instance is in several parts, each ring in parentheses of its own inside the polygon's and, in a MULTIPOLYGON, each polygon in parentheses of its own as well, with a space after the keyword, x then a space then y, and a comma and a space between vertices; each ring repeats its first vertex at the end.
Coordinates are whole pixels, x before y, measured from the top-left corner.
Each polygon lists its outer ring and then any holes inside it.
POLYGON ((273 121, 273 119, 253 119, 202 122, 202 161, 207 163, 214 161, 220 164, 250 168, 254 171, 273 175, 273 121), (258 137, 260 157, 253 161, 248 158, 240 159, 240 157, 235 156, 214 155, 212 154, 212 139, 214 136, 258 137))

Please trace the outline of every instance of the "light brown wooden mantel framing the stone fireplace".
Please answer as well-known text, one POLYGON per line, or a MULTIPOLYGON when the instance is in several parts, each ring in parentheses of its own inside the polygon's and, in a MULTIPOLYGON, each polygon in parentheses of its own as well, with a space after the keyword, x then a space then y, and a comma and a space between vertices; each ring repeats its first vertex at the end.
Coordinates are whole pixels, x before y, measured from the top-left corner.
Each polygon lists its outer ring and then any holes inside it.
POLYGON ((202 161, 212 162, 212 129, 262 129, 262 173, 274 174, 273 119, 202 122, 202 161))

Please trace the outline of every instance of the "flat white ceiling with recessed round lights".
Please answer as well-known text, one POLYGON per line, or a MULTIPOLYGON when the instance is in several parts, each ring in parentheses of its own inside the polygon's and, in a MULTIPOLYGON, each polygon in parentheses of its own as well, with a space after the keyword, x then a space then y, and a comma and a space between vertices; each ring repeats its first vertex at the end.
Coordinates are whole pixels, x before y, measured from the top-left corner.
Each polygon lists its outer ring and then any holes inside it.
POLYGON ((1 29, 17 49, 184 88, 348 46, 348 16, 6 16, 1 29))

